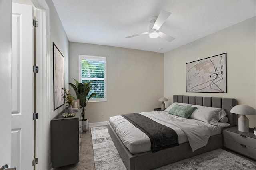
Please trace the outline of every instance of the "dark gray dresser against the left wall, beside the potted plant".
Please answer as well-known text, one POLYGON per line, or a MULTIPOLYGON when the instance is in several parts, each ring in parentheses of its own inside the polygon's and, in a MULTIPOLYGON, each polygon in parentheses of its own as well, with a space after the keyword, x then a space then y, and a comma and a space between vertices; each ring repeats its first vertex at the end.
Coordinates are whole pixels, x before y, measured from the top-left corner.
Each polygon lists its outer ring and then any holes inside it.
POLYGON ((79 162, 82 139, 81 109, 74 117, 62 117, 62 113, 51 121, 51 158, 52 168, 79 162))

